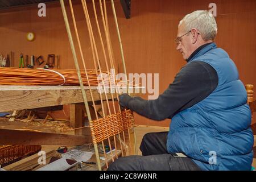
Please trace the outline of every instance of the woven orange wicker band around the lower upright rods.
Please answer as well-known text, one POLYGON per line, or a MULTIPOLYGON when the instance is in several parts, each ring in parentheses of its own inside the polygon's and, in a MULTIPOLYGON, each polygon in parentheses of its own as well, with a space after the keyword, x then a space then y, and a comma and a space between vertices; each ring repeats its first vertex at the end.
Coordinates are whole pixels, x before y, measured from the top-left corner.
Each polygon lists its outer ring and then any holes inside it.
POLYGON ((124 110, 90 122, 93 143, 101 142, 132 127, 134 127, 134 117, 131 110, 124 110))

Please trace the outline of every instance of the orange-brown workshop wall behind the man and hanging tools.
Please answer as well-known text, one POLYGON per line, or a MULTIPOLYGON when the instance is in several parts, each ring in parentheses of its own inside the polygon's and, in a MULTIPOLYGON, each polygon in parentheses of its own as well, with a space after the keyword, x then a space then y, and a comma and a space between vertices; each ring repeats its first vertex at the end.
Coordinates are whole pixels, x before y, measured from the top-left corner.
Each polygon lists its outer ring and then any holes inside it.
MULTIPOLYGON (((256 88, 255 0, 133 0, 131 19, 125 19, 120 3, 116 2, 127 72, 159 73, 159 93, 168 87, 176 73, 185 64, 180 53, 176 51, 174 43, 179 20, 194 10, 209 10, 208 5, 212 2, 217 5, 217 46, 224 48, 234 60, 243 83, 254 84, 256 88)), ((74 4, 82 48, 88 68, 93 68, 82 7, 77 1, 74 4)), ((115 62, 118 63, 121 62, 121 55, 109 2, 108 7, 115 62)), ((90 16, 93 16, 92 5, 88 8, 90 16)), ((69 6, 67 11, 69 23, 72 24, 69 6)), ((23 55, 43 55, 45 59, 48 54, 60 55, 60 69, 75 68, 59 3, 47 5, 46 17, 39 18, 37 14, 36 6, 0 10, 0 52, 5 55, 10 51, 15 52, 15 67, 18 67, 19 54, 22 52, 23 55), (35 32, 34 42, 26 40, 26 34, 30 31, 35 32)), ((94 21, 93 27, 96 30, 94 21)), ((71 28, 73 29, 73 26, 71 28)), ((73 35, 75 38, 75 34, 73 35)), ((98 40, 97 35, 96 40, 98 40)), ((100 41, 97 42, 100 43, 100 41)), ((97 47, 100 49, 100 44, 97 47)), ((104 59, 100 50, 99 52, 104 67, 104 59)), ((78 49, 77 53, 79 53, 78 49)), ((79 61, 81 64, 81 60, 79 61)), ((147 95, 143 98, 147 98, 147 95)), ((254 117, 254 122, 255 120, 254 117)), ((155 126, 168 126, 170 123, 170 121, 152 122, 137 114, 135 114, 135 121, 138 125, 155 126)))

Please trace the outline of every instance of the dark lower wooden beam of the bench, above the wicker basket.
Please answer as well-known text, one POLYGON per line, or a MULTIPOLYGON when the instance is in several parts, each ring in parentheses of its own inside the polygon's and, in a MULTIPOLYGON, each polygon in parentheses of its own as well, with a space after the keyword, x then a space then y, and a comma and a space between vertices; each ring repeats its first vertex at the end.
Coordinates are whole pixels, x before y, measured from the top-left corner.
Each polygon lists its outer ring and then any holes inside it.
POLYGON ((36 131, 0 129, 0 144, 79 146, 88 143, 88 137, 36 131))

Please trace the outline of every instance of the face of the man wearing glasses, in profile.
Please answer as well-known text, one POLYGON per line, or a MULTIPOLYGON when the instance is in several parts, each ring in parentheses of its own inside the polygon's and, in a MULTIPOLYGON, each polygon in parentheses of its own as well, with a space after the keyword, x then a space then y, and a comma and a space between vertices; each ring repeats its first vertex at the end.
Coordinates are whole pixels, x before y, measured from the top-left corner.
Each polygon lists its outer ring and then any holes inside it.
POLYGON ((178 29, 177 39, 179 40, 177 42, 179 44, 177 45, 176 49, 182 54, 183 59, 187 60, 192 53, 191 52, 192 42, 191 42, 191 32, 185 32, 184 24, 181 24, 178 29))

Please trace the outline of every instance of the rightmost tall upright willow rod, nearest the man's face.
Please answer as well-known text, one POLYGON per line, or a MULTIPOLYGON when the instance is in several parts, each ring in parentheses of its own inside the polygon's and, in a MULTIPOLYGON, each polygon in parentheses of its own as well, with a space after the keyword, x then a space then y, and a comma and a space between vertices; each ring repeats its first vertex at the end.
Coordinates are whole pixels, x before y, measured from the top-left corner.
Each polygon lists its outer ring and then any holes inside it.
MULTIPOLYGON (((105 1, 105 0, 104 0, 105 1)), ((117 21, 117 14, 115 13, 115 6, 114 6, 114 0, 111 0, 111 4, 112 4, 112 10, 113 10, 113 15, 114 15, 114 20, 115 20, 115 27, 117 28, 117 34, 118 34, 118 39, 119 39, 119 45, 120 45, 120 49, 121 49, 121 56, 122 56, 122 63, 123 63, 123 71, 125 72, 125 76, 126 76, 126 84, 127 84, 127 93, 129 94, 129 84, 128 84, 128 80, 127 80, 127 72, 126 72, 126 64, 125 64, 125 56, 123 54, 123 46, 122 46, 122 40, 121 40, 121 35, 119 32, 119 26, 118 26, 118 21, 117 21)), ((136 140, 136 132, 135 132, 135 127, 133 127, 134 130, 134 150, 135 150, 135 154, 138 154, 137 151, 137 140, 136 140)), ((129 129, 128 129, 129 132, 129 129)), ((129 132, 130 133, 130 132, 129 132)), ((130 134, 129 134, 130 136, 130 134)))

